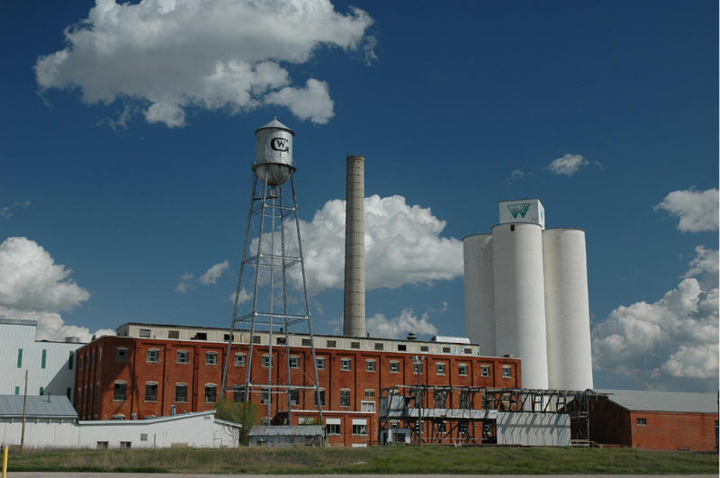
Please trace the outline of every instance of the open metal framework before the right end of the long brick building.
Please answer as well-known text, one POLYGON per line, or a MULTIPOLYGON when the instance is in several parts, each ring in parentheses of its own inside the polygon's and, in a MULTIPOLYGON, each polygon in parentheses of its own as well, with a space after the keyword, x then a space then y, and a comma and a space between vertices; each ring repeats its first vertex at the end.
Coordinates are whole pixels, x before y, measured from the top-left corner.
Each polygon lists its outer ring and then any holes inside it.
POLYGON ((396 385, 381 390, 380 431, 403 425, 418 445, 496 443, 499 411, 563 413, 570 415, 572 436, 587 440, 590 411, 602 395, 591 390, 396 385), (427 406, 430 398, 433 408, 427 406), (482 408, 473 408, 478 401, 482 408), (473 424, 478 422, 482 422, 482 434, 476 436, 473 424))

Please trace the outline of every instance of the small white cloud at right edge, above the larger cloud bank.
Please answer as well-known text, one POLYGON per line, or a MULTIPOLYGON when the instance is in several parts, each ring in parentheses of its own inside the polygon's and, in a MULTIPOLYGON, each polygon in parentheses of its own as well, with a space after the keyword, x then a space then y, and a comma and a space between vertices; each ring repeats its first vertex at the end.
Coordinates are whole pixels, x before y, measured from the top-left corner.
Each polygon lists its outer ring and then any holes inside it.
POLYGON ((673 191, 665 196, 655 210, 662 209, 680 218, 678 230, 682 232, 700 232, 717 230, 718 190, 697 191, 694 188, 673 191))

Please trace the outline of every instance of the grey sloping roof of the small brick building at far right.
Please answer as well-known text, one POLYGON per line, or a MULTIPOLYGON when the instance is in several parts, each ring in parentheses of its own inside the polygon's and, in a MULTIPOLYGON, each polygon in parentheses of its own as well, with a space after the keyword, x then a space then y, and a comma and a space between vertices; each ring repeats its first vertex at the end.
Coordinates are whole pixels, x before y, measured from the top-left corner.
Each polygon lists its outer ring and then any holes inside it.
POLYGON ((717 393, 596 390, 626 410, 717 413, 717 393))

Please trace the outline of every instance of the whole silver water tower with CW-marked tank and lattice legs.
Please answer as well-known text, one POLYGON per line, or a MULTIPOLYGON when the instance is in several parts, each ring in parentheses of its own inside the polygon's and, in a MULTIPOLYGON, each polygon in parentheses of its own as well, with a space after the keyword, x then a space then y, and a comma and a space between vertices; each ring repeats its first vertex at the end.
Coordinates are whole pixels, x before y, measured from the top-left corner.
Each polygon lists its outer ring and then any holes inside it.
POLYGON ((223 395, 233 392, 239 401, 259 401, 260 410, 266 408, 268 419, 273 418, 274 405, 278 411, 286 406, 288 424, 293 423, 293 406, 308 410, 310 407, 303 407, 302 401, 309 401, 317 405, 322 421, 293 176, 295 133, 275 118, 255 134, 253 188, 221 390, 223 395), (230 364, 230 357, 235 356, 232 342, 238 337, 238 331, 245 332, 239 334, 240 337, 247 337, 244 376, 235 373, 233 365, 237 363, 230 364), (301 332, 302 338, 295 338, 295 332, 301 332), (291 345, 295 351, 300 346, 310 347, 308 358, 311 360, 291 357, 291 345), (267 350, 260 360, 254 359, 256 347, 267 350), (275 364, 281 350, 284 350, 284 364, 275 364), (258 396, 260 400, 253 400, 258 396))

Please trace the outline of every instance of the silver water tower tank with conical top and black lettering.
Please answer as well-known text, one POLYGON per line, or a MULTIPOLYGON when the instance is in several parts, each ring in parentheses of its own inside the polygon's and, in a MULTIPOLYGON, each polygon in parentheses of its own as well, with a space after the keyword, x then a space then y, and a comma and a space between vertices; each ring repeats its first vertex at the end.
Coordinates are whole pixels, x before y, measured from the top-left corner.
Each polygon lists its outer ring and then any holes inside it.
POLYGON ((253 171, 267 185, 282 185, 295 171, 293 136, 295 132, 277 118, 255 131, 257 154, 253 171))

